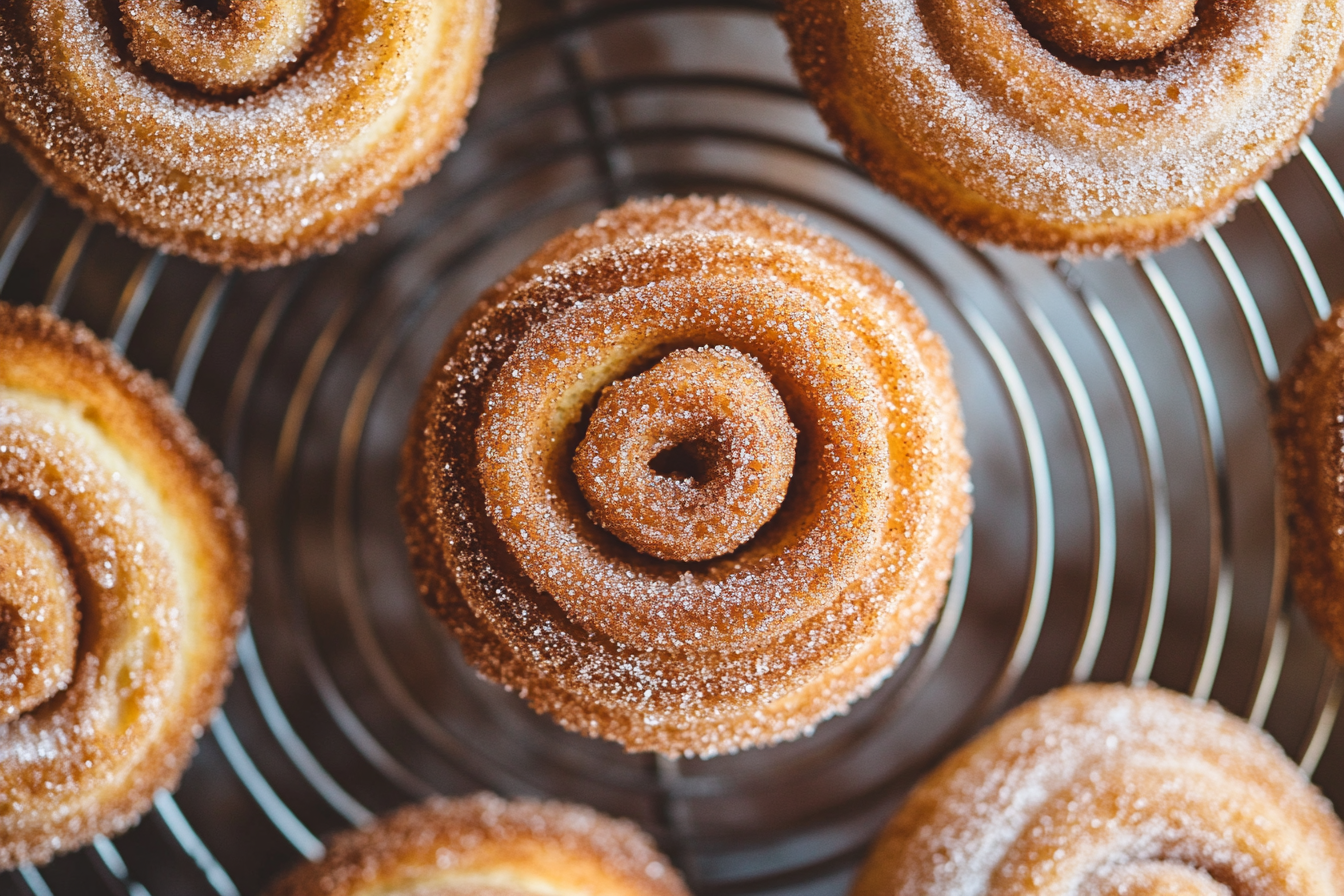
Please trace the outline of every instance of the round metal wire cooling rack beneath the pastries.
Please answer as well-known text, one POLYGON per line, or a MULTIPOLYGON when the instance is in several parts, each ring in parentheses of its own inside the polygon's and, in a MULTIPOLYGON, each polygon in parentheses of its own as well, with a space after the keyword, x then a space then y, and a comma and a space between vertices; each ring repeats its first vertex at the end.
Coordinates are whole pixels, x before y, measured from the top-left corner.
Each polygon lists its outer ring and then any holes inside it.
POLYGON ((1085 678, 1218 700, 1344 803, 1344 677, 1292 609, 1266 429, 1279 368, 1344 292, 1344 109, 1202 242, 1050 266, 968 250, 868 184, 766 3, 504 5, 461 150, 333 258, 168 259, 0 149, 0 298, 85 320, 172 386, 239 480, 257 560, 180 790, 0 893, 255 893, 328 833, 491 789, 634 818, 698 893, 836 895, 939 758, 1085 678), (398 451, 453 321, 544 239, 630 195, 727 191, 806 214, 919 300, 954 356, 974 524, 937 626, 848 716, 737 756, 625 755, 464 665, 409 575, 398 451))

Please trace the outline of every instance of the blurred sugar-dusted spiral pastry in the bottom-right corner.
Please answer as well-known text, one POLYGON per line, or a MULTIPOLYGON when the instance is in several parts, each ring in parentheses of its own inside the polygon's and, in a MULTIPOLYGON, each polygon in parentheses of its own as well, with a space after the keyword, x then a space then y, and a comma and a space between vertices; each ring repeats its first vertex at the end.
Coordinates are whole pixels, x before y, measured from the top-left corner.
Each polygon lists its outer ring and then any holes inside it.
POLYGON ((1340 896, 1344 827, 1269 735, 1159 689, 1063 688, 943 762, 852 896, 1340 896))

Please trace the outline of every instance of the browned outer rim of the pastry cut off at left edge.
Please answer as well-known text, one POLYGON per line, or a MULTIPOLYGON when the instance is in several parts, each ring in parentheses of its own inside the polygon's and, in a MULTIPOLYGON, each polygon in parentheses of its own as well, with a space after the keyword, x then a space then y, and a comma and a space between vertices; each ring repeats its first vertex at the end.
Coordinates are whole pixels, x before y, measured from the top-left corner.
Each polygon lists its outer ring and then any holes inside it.
MULTIPOLYGON (((79 324, 44 309, 0 304, 0 386, 83 404, 90 423, 176 510, 177 528, 190 537, 181 555, 198 559, 200 582, 208 588, 199 600, 196 635, 183 638, 187 684, 157 748, 125 778, 97 822, 82 829, 113 836, 136 823, 155 791, 176 789, 196 739, 223 701, 251 576, 238 492, 163 384, 79 324)), ((52 856, 46 841, 50 836, 9 842, 7 849, 15 865, 44 862, 52 856)), ((83 844, 66 848, 78 845, 83 844)))

